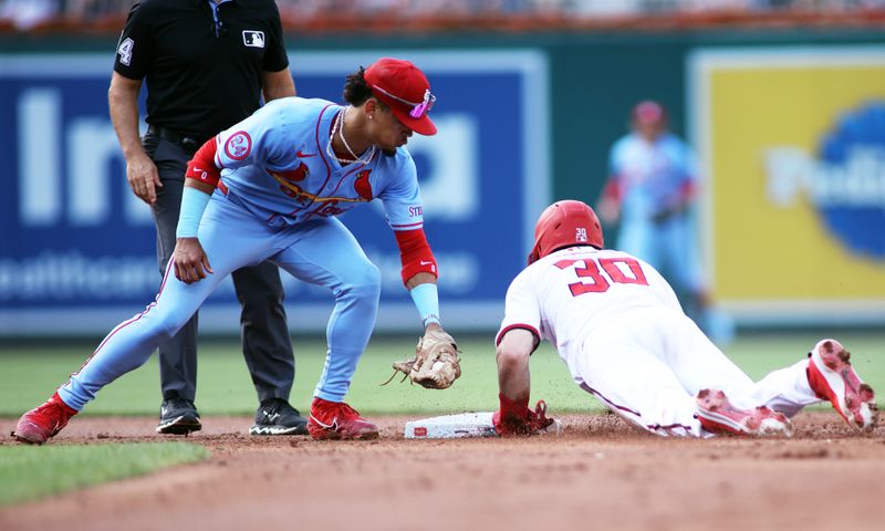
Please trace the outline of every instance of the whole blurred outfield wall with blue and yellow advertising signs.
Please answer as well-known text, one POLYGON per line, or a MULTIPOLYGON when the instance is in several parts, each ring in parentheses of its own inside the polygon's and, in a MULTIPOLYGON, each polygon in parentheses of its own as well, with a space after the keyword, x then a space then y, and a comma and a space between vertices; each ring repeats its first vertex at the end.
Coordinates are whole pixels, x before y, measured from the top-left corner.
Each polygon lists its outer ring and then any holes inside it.
MULTIPOLYGON (((106 91, 128 1, 0 3, 0 336, 95 334, 149 302, 153 223, 106 91)), ((444 319, 486 331, 551 200, 595 204, 628 113, 655 98, 698 152, 698 238, 739 327, 885 324, 882 1, 278 1, 299 94, 340 101, 382 55, 438 102, 413 138, 444 319)), ((412 330, 377 209, 344 218, 384 279, 379 330, 412 330)), ((606 228, 614 241, 617 227, 606 228)), ((293 330, 329 295, 291 281, 293 330)), ((230 284, 201 329, 230 333, 230 284)))

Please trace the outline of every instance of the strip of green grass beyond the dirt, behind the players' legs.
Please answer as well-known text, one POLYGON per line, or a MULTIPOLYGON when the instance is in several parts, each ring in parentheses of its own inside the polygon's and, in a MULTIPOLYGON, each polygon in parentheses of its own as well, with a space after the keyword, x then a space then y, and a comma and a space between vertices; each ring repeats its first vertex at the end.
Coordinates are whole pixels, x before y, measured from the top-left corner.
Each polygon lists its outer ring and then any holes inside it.
MULTIPOLYGON (((843 333, 840 340, 852 351, 861 376, 874 388, 885 389, 885 358, 882 334, 843 333)), ((725 348, 751 377, 794 363, 816 342, 815 333, 743 334, 725 348)), ((430 391, 398 378, 382 387, 393 369, 391 363, 414 352, 417 337, 375 339, 360 362, 347 402, 365 414, 424 414, 497 408, 498 391, 494 348, 491 337, 461 339, 462 375, 449 389, 430 391)), ((325 356, 321 339, 295 339, 298 371, 291 402, 306 409, 325 356)), ((14 346, 0 345, 0 416, 17 417, 46 399, 76 371, 92 345, 14 346)), ((616 354, 613 354, 616 355, 616 354)), ((532 396, 544 398, 554 412, 600 409, 597 402, 579 389, 565 364, 544 343, 532 355, 532 396)), ((160 403, 156 357, 103 389, 84 410, 85 415, 157 415, 160 403)), ((254 388, 239 345, 204 342, 200 345, 197 406, 202 415, 254 413, 254 388)))

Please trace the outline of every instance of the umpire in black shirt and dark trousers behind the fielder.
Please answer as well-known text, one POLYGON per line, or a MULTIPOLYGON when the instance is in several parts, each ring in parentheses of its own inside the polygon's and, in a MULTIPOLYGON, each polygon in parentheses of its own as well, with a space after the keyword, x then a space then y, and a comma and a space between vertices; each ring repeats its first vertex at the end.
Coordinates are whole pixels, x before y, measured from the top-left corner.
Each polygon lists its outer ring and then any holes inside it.
MULTIPOLYGON (((129 11, 117 45, 108 105, 132 191, 150 205, 165 274, 187 162, 208 138, 264 101, 294 96, 295 85, 273 0, 144 0, 129 11), (138 93, 147 81, 147 133, 138 137, 138 93)), ((233 272, 242 305, 242 350, 260 406, 252 435, 306 434, 289 404, 295 373, 275 266, 233 272)), ((197 315, 159 347, 162 434, 200 429, 197 315)))

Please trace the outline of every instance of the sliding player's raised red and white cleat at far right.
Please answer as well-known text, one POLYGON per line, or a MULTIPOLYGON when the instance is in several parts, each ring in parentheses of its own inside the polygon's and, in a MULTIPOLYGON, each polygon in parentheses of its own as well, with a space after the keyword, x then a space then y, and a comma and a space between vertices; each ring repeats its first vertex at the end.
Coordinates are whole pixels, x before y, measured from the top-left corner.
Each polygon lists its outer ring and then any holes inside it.
POLYGON ((836 340, 821 340, 809 353, 805 374, 818 397, 856 429, 873 429, 878 420, 876 396, 851 366, 851 353, 836 340))

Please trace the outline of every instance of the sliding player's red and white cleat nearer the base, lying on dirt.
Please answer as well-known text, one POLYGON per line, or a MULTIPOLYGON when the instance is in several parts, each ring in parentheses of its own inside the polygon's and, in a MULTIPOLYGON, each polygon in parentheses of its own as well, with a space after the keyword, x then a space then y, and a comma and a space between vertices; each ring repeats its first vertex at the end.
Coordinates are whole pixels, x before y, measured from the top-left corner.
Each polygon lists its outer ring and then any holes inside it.
POLYGON ((701 389, 697 397, 700 426, 714 434, 754 435, 760 437, 782 435, 792 437, 793 425, 782 413, 768 406, 739 409, 731 405, 725 393, 701 389))

